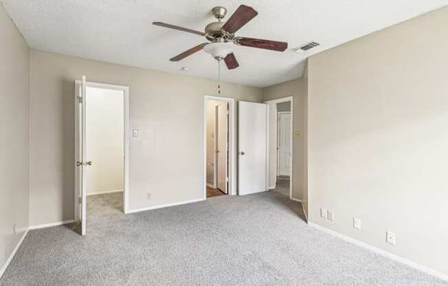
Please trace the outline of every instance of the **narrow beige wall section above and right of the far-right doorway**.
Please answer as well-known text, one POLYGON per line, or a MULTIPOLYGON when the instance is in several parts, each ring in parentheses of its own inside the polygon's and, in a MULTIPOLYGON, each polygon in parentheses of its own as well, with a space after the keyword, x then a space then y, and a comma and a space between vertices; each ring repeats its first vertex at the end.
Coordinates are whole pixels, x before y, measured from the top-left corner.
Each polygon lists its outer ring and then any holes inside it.
POLYGON ((293 199, 304 198, 304 80, 298 78, 262 89, 263 101, 293 96, 293 131, 300 131, 300 137, 293 137, 293 199))

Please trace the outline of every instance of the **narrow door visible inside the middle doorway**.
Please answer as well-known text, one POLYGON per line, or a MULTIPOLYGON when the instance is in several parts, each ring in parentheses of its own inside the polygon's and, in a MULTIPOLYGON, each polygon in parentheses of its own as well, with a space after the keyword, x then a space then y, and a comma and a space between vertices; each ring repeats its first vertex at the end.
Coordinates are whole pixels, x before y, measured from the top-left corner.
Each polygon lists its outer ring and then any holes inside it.
POLYGON ((217 186, 227 194, 229 161, 229 104, 216 106, 216 173, 217 186))

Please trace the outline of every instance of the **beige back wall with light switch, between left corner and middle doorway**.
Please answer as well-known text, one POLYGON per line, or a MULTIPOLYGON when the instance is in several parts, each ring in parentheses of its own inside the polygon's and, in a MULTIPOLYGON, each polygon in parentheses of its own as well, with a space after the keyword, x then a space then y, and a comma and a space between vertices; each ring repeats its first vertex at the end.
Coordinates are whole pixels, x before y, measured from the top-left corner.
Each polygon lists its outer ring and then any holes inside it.
MULTIPOLYGON (((130 88, 131 128, 139 129, 130 142, 130 209, 203 197, 203 104, 216 82, 35 50, 30 74, 32 224, 74 217, 74 80, 83 74, 130 88)), ((262 100, 256 87, 221 83, 221 94, 262 100)))

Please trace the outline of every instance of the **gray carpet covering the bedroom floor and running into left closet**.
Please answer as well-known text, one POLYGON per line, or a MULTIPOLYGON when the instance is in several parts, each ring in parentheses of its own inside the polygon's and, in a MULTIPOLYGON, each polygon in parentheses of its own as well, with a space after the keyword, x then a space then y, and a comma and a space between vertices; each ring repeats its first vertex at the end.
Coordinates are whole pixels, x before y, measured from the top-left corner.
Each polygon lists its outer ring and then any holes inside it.
POLYGON ((0 285, 445 285, 309 227, 279 192, 122 214, 89 197, 87 236, 32 230, 0 285))

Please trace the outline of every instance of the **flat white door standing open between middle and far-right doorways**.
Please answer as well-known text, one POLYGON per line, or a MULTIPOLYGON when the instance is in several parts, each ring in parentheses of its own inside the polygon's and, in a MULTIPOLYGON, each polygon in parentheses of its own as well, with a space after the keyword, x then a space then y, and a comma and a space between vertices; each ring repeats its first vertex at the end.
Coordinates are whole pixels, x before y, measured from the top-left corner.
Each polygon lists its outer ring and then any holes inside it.
POLYGON ((238 102, 239 195, 267 190, 267 104, 238 102))

